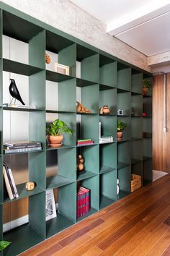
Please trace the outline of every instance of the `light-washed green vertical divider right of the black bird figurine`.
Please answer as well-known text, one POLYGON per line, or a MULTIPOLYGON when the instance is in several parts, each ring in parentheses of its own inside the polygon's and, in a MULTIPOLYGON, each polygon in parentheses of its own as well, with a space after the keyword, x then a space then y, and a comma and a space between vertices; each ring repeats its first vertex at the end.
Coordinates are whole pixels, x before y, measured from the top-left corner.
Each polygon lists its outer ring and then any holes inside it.
POLYGON ((45 71, 29 77, 29 104, 45 109, 45 71))

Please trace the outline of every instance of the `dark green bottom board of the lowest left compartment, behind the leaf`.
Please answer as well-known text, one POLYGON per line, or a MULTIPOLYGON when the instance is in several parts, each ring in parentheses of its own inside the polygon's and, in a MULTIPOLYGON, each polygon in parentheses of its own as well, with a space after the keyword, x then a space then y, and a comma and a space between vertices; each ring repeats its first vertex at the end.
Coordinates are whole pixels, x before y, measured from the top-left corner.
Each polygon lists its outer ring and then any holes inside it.
POLYGON ((6 232, 3 239, 12 242, 4 249, 3 255, 5 256, 19 255, 19 253, 43 241, 42 237, 28 225, 6 232))

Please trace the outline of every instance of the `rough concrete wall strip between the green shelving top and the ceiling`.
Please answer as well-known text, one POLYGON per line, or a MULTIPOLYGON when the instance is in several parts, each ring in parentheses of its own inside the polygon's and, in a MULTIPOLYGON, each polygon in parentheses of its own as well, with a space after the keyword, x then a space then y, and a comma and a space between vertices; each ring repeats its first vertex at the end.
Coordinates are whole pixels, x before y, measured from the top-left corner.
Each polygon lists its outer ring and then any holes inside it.
POLYGON ((106 25, 68 0, 3 0, 3 2, 124 61, 151 71, 144 54, 107 34, 106 25))

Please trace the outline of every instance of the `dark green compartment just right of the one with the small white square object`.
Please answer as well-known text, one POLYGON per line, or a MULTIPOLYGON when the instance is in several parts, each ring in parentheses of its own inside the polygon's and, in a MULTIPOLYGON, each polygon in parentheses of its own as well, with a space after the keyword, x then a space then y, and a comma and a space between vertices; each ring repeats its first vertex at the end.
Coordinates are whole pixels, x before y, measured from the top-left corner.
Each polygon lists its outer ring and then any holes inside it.
POLYGON ((143 116, 143 96, 133 95, 131 102, 133 116, 143 116))

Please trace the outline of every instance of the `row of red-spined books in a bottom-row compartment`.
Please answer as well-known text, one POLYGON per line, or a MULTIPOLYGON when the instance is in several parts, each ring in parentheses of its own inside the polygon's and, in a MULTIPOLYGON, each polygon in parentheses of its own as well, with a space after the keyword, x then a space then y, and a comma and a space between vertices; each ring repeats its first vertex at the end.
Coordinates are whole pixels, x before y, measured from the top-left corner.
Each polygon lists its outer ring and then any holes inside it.
POLYGON ((90 210, 90 190, 79 187, 77 191, 77 218, 85 216, 90 210))

